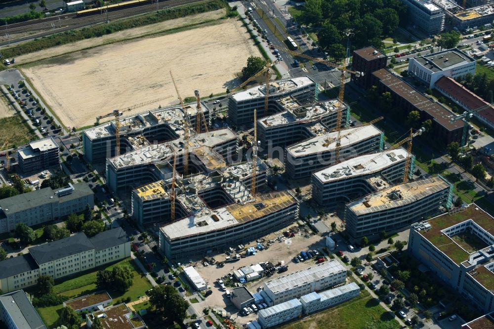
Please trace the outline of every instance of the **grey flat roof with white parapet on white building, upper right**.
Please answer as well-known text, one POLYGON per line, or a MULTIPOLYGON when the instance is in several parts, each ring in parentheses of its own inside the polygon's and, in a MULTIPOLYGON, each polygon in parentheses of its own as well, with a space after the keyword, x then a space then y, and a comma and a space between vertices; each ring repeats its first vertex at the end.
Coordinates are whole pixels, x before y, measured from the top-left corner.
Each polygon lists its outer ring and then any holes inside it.
POLYGON ((457 48, 415 57, 414 60, 433 72, 449 70, 451 67, 475 62, 475 59, 457 48))

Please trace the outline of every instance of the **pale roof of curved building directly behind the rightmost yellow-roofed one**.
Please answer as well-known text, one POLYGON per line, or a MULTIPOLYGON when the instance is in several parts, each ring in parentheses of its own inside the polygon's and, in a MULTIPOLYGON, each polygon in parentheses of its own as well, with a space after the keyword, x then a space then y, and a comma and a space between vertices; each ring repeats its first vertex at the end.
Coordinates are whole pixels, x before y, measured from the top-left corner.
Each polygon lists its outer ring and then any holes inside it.
POLYGON ((379 172, 400 161, 405 161, 407 155, 408 152, 403 148, 383 151, 377 154, 365 154, 316 171, 313 175, 323 183, 368 175, 379 172))

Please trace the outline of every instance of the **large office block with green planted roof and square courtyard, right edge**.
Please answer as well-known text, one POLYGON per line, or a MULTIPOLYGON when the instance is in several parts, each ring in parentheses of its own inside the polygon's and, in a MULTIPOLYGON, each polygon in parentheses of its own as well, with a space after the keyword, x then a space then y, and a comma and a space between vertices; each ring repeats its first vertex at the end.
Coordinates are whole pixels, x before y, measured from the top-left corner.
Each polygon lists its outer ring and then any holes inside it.
POLYGON ((454 208, 412 225, 408 250, 471 305, 490 313, 494 311, 493 227, 494 218, 475 204, 454 208), (472 243, 465 243, 464 236, 472 243))

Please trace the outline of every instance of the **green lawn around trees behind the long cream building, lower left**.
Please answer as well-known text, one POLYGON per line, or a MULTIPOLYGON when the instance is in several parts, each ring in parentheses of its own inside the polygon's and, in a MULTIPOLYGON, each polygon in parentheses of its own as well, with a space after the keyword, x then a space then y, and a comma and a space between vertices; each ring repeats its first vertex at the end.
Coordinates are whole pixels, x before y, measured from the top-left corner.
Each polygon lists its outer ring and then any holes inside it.
MULTIPOLYGON (((125 299, 127 297, 130 297, 131 300, 136 300, 140 296, 143 296, 146 290, 151 288, 151 284, 149 283, 147 278, 140 272, 138 267, 130 258, 110 265, 105 269, 110 270, 116 265, 124 264, 130 266, 133 269, 132 274, 134 275, 134 282, 132 284, 132 287, 130 287, 130 289, 128 289, 123 294, 109 291, 110 296, 114 299, 114 304, 119 303, 121 299, 125 299)), ((67 300, 95 292, 98 290, 96 288, 97 272, 98 270, 89 272, 77 278, 73 278, 57 284, 53 288, 53 291, 57 294, 67 296, 67 300)), ((62 305, 38 308, 38 312, 40 313, 41 318, 48 328, 51 328, 58 321, 58 312, 61 308, 62 305)))

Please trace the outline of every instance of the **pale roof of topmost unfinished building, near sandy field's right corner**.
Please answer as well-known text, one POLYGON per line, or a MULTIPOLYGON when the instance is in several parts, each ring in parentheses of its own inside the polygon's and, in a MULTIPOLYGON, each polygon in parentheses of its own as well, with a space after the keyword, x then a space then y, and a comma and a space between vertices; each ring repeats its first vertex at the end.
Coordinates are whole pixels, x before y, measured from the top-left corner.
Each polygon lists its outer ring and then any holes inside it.
MULTIPOLYGON (((291 78, 286 80, 278 80, 269 82, 269 94, 276 95, 279 93, 287 92, 289 90, 294 90, 297 88, 304 87, 308 84, 313 84, 314 81, 309 77, 291 78)), ((231 97, 236 101, 244 101, 247 99, 254 99, 259 97, 264 97, 266 94, 264 84, 258 85, 243 91, 239 91, 231 97)))

